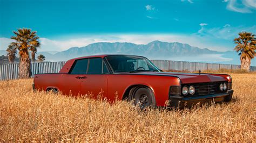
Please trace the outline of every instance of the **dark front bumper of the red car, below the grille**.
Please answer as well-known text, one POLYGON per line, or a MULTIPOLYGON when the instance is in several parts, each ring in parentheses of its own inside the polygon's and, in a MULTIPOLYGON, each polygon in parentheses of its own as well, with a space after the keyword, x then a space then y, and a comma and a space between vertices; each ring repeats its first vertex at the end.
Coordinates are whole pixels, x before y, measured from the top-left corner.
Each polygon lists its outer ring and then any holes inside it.
POLYGON ((169 106, 173 108, 184 108, 185 106, 193 106, 197 103, 205 104, 211 102, 230 101, 233 96, 233 90, 227 90, 221 94, 204 95, 204 96, 169 96, 169 106))

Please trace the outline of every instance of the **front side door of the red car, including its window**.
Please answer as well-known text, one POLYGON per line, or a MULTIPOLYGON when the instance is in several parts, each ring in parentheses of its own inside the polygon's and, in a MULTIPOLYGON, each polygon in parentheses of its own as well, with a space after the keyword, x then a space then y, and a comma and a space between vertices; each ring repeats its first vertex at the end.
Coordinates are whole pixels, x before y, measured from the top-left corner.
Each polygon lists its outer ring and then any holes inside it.
POLYGON ((81 82, 81 94, 92 98, 107 97, 107 77, 109 71, 102 58, 90 58, 86 77, 81 82))

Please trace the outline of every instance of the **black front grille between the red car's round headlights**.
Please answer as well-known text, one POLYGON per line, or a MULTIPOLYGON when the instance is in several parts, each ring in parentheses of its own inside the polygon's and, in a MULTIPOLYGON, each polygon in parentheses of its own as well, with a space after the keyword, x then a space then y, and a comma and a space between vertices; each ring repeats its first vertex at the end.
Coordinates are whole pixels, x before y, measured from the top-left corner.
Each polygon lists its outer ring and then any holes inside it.
POLYGON ((196 88, 196 92, 192 96, 201 96, 201 95, 212 95, 220 93, 219 85, 220 83, 227 82, 206 82, 206 83, 191 83, 186 84, 187 87, 193 85, 196 88))

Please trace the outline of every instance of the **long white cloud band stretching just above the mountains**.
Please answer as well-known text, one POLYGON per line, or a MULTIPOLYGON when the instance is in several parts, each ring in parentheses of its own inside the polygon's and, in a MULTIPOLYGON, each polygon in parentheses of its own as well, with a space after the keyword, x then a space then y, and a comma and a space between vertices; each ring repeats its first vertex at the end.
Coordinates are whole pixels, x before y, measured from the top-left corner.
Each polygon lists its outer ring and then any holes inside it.
MULTIPOLYGON (((63 51, 70 47, 83 47, 94 42, 132 42, 134 44, 147 44, 154 40, 166 42, 181 42, 199 48, 209 48, 216 51, 233 50, 233 39, 241 31, 256 33, 256 25, 251 27, 229 24, 220 27, 208 27, 206 23, 200 24, 197 33, 191 34, 97 34, 76 35, 61 40, 40 38, 41 51, 63 51)), ((12 42, 9 38, 0 38, 0 50, 5 50, 12 42)))

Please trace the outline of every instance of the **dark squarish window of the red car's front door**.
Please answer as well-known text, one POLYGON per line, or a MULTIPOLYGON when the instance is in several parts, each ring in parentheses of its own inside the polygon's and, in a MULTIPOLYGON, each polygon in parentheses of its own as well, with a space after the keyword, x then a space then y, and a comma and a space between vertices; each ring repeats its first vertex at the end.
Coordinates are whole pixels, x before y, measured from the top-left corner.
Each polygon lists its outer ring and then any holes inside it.
POLYGON ((102 74, 102 58, 90 59, 87 74, 102 74))

